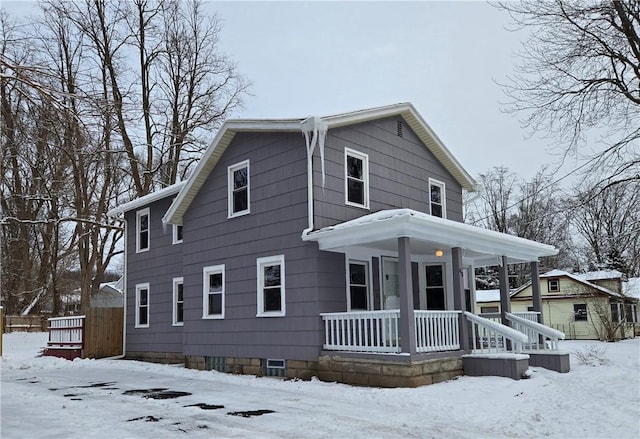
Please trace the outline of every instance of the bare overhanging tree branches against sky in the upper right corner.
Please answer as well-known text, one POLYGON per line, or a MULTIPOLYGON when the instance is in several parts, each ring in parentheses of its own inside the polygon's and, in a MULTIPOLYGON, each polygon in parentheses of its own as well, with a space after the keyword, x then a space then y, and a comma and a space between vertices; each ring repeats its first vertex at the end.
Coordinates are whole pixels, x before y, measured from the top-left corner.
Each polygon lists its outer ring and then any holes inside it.
POLYGON ((591 131, 590 169, 601 186, 640 181, 640 2, 501 2, 528 40, 505 85, 525 127, 576 153, 591 131), (594 146, 593 144, 591 146, 594 146))

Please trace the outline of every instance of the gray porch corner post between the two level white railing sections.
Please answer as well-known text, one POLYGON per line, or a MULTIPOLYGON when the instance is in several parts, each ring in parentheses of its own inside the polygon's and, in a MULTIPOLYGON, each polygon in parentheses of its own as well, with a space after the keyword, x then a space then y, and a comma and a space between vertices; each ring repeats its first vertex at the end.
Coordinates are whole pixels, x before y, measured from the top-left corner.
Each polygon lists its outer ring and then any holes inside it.
POLYGON ((416 323, 413 314, 413 278, 411 274, 411 242, 398 238, 398 281, 400 287, 400 348, 411 355, 416 349, 416 323))

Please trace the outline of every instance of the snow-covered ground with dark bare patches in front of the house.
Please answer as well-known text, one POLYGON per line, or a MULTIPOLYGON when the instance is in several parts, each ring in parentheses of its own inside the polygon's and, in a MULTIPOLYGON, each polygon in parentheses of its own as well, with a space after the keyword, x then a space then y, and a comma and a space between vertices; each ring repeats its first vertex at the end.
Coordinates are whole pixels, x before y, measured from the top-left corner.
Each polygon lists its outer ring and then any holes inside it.
POLYGON ((588 364, 572 355, 567 374, 532 368, 528 380, 460 377, 417 389, 37 357, 45 344, 42 333, 4 335, 3 439, 640 437, 638 338, 564 342, 571 352, 606 350, 588 364), (150 398, 157 389, 188 394, 150 398), (273 412, 241 416, 260 410, 273 412))

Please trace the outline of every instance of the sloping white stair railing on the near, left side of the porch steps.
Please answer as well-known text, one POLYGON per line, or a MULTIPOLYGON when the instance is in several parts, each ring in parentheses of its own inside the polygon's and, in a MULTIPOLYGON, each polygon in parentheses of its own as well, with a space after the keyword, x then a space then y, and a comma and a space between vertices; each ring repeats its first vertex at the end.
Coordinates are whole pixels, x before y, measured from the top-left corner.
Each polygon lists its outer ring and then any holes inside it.
POLYGON ((464 315, 471 322, 474 354, 522 353, 523 345, 529 338, 522 332, 508 326, 471 314, 464 315), (507 343, 509 342, 509 343, 507 343), (509 346, 509 344, 511 346, 509 346))

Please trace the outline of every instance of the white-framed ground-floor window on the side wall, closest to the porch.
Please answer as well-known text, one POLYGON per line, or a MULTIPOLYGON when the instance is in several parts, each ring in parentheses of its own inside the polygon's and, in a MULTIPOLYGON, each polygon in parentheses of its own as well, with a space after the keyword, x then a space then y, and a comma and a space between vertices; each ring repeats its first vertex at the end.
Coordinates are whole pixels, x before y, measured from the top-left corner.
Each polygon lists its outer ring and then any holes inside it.
POLYGON ((258 258, 258 312, 256 317, 281 317, 285 310, 284 255, 258 258))

